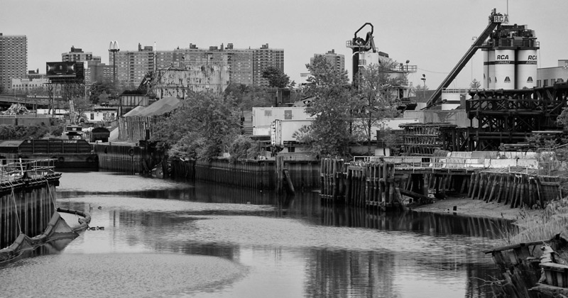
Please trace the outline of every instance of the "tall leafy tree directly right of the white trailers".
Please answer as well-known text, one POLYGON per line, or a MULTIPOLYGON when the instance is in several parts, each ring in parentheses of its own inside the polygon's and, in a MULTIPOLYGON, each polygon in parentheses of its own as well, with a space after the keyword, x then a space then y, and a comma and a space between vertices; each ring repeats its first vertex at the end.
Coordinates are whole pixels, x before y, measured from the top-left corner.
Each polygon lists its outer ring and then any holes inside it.
POLYGON ((312 77, 307 79, 306 96, 314 96, 306 112, 315 116, 310 126, 296 133, 297 140, 308 145, 318 155, 349 156, 351 136, 351 101, 349 79, 345 70, 336 70, 322 56, 306 65, 312 77))

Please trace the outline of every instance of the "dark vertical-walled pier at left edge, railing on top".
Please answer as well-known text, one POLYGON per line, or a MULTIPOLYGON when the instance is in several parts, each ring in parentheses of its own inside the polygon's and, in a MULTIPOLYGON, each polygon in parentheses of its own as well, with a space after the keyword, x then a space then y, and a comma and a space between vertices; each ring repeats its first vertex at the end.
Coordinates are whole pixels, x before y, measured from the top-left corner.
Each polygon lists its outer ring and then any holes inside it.
POLYGON ((61 177, 55 161, 14 160, 0 165, 0 261, 53 240, 55 234, 75 235, 60 220, 55 204, 61 177))

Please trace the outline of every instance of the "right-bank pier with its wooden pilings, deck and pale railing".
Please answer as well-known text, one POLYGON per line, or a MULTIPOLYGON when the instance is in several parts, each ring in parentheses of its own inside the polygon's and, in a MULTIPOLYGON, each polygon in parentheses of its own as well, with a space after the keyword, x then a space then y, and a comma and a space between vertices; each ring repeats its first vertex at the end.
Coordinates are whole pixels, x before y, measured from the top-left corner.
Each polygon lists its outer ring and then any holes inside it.
POLYGON ((560 178, 546 175, 550 161, 539 161, 535 153, 472 156, 477 154, 324 159, 320 196, 324 202, 381 209, 404 209, 403 196, 410 197, 408 202, 427 204, 450 192, 531 209, 562 197, 560 178))

